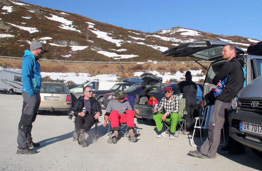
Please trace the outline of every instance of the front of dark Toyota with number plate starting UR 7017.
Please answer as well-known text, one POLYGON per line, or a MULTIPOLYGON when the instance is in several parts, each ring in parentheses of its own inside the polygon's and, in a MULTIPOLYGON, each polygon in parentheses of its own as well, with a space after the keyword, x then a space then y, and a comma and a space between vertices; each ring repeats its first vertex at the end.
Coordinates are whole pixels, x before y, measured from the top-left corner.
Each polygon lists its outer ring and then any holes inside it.
MULTIPOLYGON (((260 71, 261 74, 261 71, 260 71)), ((228 113, 229 135, 262 157, 262 75, 239 90, 228 113)))

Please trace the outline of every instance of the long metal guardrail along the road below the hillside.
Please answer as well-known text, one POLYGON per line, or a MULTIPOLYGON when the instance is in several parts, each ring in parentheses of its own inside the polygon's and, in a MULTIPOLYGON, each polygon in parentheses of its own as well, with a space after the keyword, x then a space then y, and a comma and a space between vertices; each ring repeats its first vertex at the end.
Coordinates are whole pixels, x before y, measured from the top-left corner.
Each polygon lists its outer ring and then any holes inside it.
MULTIPOLYGON (((9 59, 23 59, 22 57, 7 57, 7 56, 0 56, 1 58, 9 58, 9 59)), ((66 61, 66 60, 55 60, 55 59, 39 59, 40 61, 49 61, 49 62, 71 62, 71 63, 105 63, 105 64, 114 64, 114 63, 118 63, 118 64, 143 64, 143 63, 150 63, 150 64, 164 64, 164 63, 168 63, 168 64, 171 64, 171 63, 195 63, 194 61, 181 61, 181 62, 173 62, 173 61, 170 61, 170 62, 99 62, 99 61, 66 61)), ((209 63, 209 62, 213 62, 213 61, 198 61, 199 63, 209 63)))

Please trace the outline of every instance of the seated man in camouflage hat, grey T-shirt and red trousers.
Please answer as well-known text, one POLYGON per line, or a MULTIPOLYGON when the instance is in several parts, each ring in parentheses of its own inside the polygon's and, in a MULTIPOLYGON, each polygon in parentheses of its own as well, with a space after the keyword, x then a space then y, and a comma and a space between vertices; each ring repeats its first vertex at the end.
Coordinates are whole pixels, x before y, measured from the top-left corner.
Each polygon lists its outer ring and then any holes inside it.
POLYGON ((125 97, 127 97, 127 93, 118 90, 115 94, 116 99, 112 100, 108 103, 106 113, 105 113, 105 123, 103 126, 107 125, 108 119, 111 122, 112 131, 114 131, 114 135, 110 139, 110 143, 117 143, 119 123, 127 123, 127 130, 129 132, 129 138, 131 142, 137 142, 137 138, 140 134, 134 134, 134 117, 136 113, 139 111, 136 109, 135 112, 132 111, 132 108, 128 101, 125 101, 125 97))

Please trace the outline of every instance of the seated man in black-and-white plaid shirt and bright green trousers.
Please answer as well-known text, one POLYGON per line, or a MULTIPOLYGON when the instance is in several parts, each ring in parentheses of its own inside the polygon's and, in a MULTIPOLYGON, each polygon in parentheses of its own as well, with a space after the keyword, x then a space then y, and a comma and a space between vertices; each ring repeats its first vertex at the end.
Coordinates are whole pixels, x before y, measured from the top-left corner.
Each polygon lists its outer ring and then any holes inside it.
POLYGON ((172 95, 173 90, 171 87, 166 87, 164 93, 166 97, 161 99, 157 109, 155 107, 153 109, 153 112, 155 112, 153 118, 157 125, 157 131, 160 133, 157 135, 157 138, 166 137, 162 121, 170 121, 171 128, 169 139, 175 139, 174 133, 176 132, 177 121, 180 118, 180 114, 178 113, 178 99, 172 95))

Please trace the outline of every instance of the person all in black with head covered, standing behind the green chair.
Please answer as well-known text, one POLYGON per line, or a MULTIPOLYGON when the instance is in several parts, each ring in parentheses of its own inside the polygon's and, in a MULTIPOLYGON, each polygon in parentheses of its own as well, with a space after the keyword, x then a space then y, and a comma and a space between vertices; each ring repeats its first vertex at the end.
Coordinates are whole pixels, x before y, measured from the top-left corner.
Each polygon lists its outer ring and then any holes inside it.
POLYGON ((190 71, 185 73, 185 81, 175 85, 176 94, 183 93, 185 98, 185 128, 186 132, 194 129, 195 117, 194 114, 197 112, 197 84, 192 81, 192 75, 190 71))

